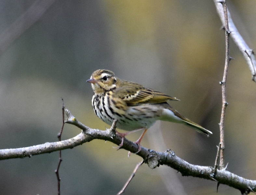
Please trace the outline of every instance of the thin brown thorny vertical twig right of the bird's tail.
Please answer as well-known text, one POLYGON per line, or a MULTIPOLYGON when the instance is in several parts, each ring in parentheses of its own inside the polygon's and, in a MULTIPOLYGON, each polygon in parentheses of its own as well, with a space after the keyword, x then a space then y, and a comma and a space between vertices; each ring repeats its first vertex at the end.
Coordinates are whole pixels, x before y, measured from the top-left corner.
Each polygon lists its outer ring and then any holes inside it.
POLYGON ((221 1, 224 11, 224 19, 225 19, 225 43, 226 43, 226 57, 225 57, 225 67, 223 73, 223 79, 220 82, 222 88, 222 111, 221 111, 221 121, 220 121, 220 143, 221 143, 221 150, 220 150, 220 168, 224 168, 224 119, 225 119, 225 112, 226 107, 228 105, 226 101, 226 81, 227 81, 227 73, 228 73, 228 66, 230 61, 229 56, 229 26, 228 26, 228 14, 227 14, 227 0, 221 1))

